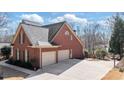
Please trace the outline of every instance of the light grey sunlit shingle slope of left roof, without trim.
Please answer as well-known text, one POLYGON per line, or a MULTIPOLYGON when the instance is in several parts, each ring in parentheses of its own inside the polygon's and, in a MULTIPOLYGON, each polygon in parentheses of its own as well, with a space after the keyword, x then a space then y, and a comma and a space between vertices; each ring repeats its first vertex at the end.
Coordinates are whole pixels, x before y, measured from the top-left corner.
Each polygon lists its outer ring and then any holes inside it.
POLYGON ((48 42, 48 29, 27 24, 21 25, 33 45, 37 45, 38 41, 48 42))

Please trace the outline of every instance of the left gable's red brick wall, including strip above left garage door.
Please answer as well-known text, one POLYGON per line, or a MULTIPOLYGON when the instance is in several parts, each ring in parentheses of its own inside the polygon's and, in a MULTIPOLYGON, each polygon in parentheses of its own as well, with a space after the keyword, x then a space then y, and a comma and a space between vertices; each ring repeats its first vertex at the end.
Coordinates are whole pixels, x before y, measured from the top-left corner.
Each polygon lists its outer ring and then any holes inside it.
MULTIPOLYGON (((31 46, 31 43, 28 39, 28 37, 26 36, 23 28, 20 29, 18 36, 14 42, 14 46, 13 46, 13 59, 16 60, 16 49, 18 48, 20 50, 20 60, 22 62, 24 62, 24 58, 23 58, 23 51, 25 51, 25 49, 27 49, 29 51, 29 61, 31 62, 32 60, 35 60, 35 66, 40 67, 40 60, 39 60, 39 54, 40 54, 40 49, 39 48, 31 48, 28 47, 31 46), (20 33, 24 33, 25 36, 25 40, 23 44, 19 43, 19 34, 20 33)), ((41 49, 41 60, 42 60, 42 52, 48 52, 48 51, 57 51, 58 48, 42 48, 41 49)))

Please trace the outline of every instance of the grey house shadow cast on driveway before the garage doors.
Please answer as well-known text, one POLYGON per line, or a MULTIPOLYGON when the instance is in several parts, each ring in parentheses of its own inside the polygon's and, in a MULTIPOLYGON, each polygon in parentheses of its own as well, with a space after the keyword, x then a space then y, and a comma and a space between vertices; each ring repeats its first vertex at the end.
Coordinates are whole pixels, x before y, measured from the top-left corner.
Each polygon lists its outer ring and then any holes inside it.
POLYGON ((34 75, 31 75, 30 77, 36 76, 39 74, 43 74, 43 73, 50 73, 50 74, 54 74, 54 75, 59 75, 59 74, 65 72, 66 70, 70 69, 74 65, 78 64, 79 62, 81 62, 81 60, 79 60, 79 59, 63 60, 63 61, 60 61, 56 64, 44 66, 42 69, 38 70, 34 75))

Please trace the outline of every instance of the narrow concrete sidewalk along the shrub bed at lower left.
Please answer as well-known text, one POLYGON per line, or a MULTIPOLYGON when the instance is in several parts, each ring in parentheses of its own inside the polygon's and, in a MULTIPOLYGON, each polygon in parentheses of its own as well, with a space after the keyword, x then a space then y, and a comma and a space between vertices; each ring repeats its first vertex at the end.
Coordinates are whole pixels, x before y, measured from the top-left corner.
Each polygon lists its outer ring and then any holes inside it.
POLYGON ((25 68, 22 68, 22 67, 14 66, 14 65, 10 65, 10 64, 7 64, 5 62, 6 62, 6 60, 5 61, 1 61, 0 65, 1 66, 5 66, 5 67, 9 67, 9 68, 12 68, 14 70, 18 70, 18 71, 21 71, 21 72, 24 72, 24 73, 30 74, 30 75, 35 73, 35 71, 28 70, 28 69, 25 69, 25 68))

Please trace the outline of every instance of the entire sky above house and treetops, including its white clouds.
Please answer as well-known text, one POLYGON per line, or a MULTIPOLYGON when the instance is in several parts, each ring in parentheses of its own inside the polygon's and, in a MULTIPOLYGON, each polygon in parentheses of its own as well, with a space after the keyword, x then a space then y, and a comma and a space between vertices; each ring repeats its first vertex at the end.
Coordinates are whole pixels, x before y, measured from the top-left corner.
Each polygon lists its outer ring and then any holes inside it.
POLYGON ((43 25, 66 20, 79 27, 90 22, 98 22, 106 26, 105 20, 114 14, 113 12, 8 12, 9 19, 12 21, 9 26, 13 29, 13 34, 22 19, 36 21, 43 25))

